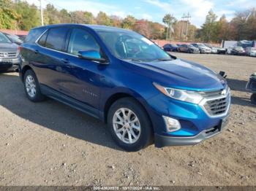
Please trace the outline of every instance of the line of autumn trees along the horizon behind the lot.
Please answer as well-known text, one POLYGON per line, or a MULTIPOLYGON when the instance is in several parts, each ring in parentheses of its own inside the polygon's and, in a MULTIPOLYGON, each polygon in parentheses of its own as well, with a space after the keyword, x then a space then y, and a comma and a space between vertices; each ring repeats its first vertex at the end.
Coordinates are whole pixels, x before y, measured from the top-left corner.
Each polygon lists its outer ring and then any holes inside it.
MULTIPOLYGON (((163 17, 162 25, 132 15, 121 18, 99 12, 94 16, 87 11, 69 12, 67 9, 56 9, 47 4, 44 9, 44 23, 84 23, 104 26, 116 26, 138 31, 151 39, 172 39, 187 42, 221 42, 222 40, 256 39, 256 10, 249 9, 236 12, 232 20, 225 15, 218 19, 210 10, 201 28, 192 25, 188 20, 177 20, 173 15, 163 17)), ((40 12, 34 4, 20 0, 0 0, 0 28, 29 31, 41 25, 40 12)))

